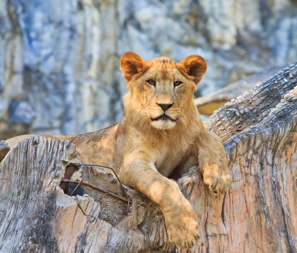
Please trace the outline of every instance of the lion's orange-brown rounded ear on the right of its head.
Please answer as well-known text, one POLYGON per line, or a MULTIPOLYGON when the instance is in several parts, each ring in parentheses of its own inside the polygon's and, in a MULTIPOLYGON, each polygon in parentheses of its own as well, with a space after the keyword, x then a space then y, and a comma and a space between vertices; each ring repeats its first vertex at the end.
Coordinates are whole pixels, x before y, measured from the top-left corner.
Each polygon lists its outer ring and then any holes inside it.
POLYGON ((200 55, 190 55, 183 59, 180 64, 186 68, 189 76, 194 77, 195 84, 201 81, 207 68, 205 59, 200 55))

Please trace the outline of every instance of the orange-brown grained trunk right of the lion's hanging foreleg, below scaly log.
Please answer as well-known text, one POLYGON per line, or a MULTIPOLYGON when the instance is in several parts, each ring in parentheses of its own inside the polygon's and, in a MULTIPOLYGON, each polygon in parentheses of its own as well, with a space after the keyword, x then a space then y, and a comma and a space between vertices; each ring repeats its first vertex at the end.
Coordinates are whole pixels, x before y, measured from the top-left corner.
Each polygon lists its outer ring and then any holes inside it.
POLYGON ((297 87, 258 125, 225 142, 231 190, 210 193, 201 175, 179 184, 201 224, 193 252, 297 252, 297 87))

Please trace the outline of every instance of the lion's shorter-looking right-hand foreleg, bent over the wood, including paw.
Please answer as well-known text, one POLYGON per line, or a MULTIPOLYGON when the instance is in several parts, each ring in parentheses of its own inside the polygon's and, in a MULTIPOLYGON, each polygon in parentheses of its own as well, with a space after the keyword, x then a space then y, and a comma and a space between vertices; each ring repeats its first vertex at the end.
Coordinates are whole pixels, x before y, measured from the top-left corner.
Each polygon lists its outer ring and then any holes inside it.
POLYGON ((227 193, 231 176, 222 140, 210 131, 200 131, 194 149, 204 183, 213 192, 227 193))

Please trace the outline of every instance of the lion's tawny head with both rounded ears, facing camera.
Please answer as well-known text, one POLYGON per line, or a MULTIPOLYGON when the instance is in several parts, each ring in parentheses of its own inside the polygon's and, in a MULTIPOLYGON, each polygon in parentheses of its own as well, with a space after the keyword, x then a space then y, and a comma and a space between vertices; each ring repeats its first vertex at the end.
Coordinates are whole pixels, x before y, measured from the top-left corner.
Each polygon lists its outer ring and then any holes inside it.
POLYGON ((129 89, 124 97, 125 116, 136 124, 162 130, 186 124, 194 105, 193 92, 206 67, 199 55, 177 63, 166 57, 145 62, 136 53, 124 53, 120 69, 129 89))

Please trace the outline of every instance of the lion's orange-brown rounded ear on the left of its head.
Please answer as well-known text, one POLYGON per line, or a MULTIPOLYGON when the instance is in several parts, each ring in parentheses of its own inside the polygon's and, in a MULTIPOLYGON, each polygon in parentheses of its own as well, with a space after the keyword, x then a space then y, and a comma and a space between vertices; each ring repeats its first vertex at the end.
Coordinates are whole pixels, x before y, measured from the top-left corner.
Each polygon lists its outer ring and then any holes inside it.
POLYGON ((126 52, 120 60, 120 70, 123 71, 123 76, 128 82, 134 75, 142 72, 144 65, 144 59, 137 53, 126 52))

